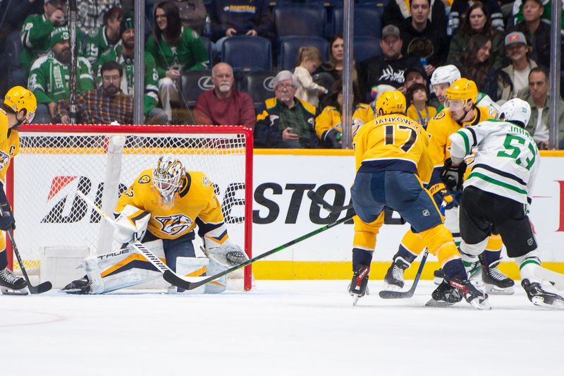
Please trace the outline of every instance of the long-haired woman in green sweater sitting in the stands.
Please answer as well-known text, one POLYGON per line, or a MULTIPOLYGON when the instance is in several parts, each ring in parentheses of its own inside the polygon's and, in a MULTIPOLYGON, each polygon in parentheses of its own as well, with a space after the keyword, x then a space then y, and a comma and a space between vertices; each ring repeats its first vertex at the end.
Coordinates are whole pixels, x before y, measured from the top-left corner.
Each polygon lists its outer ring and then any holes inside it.
POLYGON ((159 97, 170 121, 171 100, 180 99, 182 71, 207 69, 209 61, 200 35, 182 26, 178 6, 173 1, 162 1, 157 5, 154 21, 154 34, 147 40, 145 49, 157 61, 159 97))

